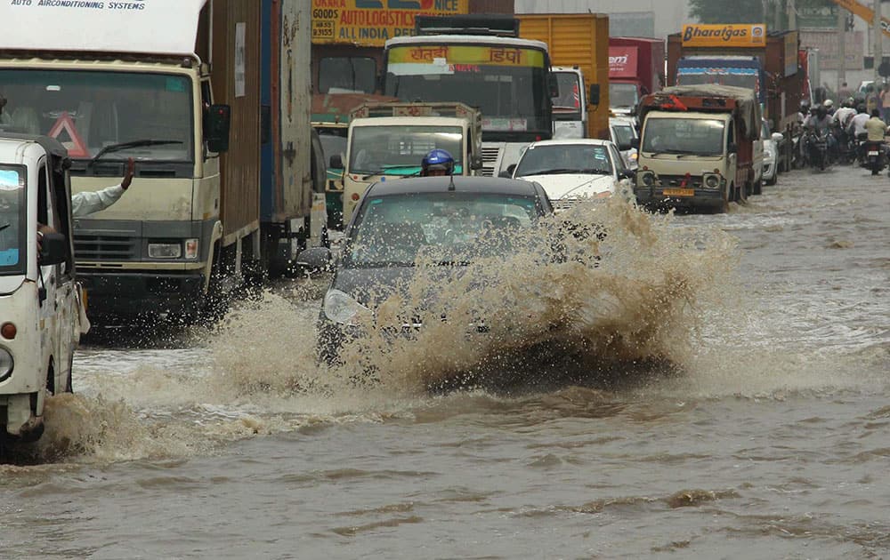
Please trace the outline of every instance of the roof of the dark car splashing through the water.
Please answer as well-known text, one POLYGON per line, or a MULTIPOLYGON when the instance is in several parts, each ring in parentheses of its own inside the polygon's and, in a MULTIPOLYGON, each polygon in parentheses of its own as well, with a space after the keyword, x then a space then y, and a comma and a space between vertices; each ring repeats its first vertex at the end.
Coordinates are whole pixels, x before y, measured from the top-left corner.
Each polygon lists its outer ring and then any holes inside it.
POLYGON ((368 196, 404 195, 411 193, 444 193, 454 180, 458 193, 485 193, 515 196, 537 196, 534 185, 527 180, 501 177, 410 177, 378 181, 368 188, 368 196))

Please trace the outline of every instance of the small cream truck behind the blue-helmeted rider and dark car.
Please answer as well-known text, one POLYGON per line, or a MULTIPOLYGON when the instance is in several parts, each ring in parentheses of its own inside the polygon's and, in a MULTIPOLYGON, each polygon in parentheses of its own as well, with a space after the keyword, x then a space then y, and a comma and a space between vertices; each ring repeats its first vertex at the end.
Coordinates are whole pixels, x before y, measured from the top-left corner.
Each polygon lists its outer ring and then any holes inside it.
POLYGON ((346 161, 336 154, 329 163, 344 170, 344 224, 371 184, 416 176, 434 148, 454 157, 456 175, 475 175, 482 168, 481 113, 463 103, 365 103, 355 108, 346 161))

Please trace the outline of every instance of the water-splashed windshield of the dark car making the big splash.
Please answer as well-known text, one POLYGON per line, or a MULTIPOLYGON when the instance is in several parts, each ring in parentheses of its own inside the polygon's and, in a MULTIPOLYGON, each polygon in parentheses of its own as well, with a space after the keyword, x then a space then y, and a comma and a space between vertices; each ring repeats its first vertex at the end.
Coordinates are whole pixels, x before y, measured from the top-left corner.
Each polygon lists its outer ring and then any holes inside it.
POLYGON ((543 212, 534 196, 458 192, 371 196, 352 227, 346 268, 442 265, 510 252, 543 212))

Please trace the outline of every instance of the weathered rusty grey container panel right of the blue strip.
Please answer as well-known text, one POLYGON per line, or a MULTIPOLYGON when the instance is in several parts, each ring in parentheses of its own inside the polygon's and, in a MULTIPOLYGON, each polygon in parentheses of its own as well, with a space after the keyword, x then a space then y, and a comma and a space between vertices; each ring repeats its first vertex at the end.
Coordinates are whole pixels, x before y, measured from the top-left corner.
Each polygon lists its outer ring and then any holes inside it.
MULTIPOLYGON (((278 99, 278 118, 272 120, 277 181, 273 221, 309 215, 312 207, 312 148, 310 55, 312 20, 310 3, 280 0, 278 71, 273 69, 273 99, 278 99), (278 97, 274 92, 278 91, 278 97)), ((276 45, 272 44, 272 51, 276 45)))

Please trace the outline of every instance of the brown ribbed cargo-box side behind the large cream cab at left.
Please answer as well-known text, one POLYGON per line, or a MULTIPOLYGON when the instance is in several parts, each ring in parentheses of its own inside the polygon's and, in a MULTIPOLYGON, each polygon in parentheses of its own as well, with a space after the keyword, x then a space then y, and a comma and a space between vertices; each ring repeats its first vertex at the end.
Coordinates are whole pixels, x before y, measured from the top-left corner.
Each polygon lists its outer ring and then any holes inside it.
POLYGON ((220 156, 220 216, 227 243, 234 241, 231 234, 241 237, 259 228, 260 8, 256 0, 209 4, 214 103, 231 106, 229 151, 220 156))

